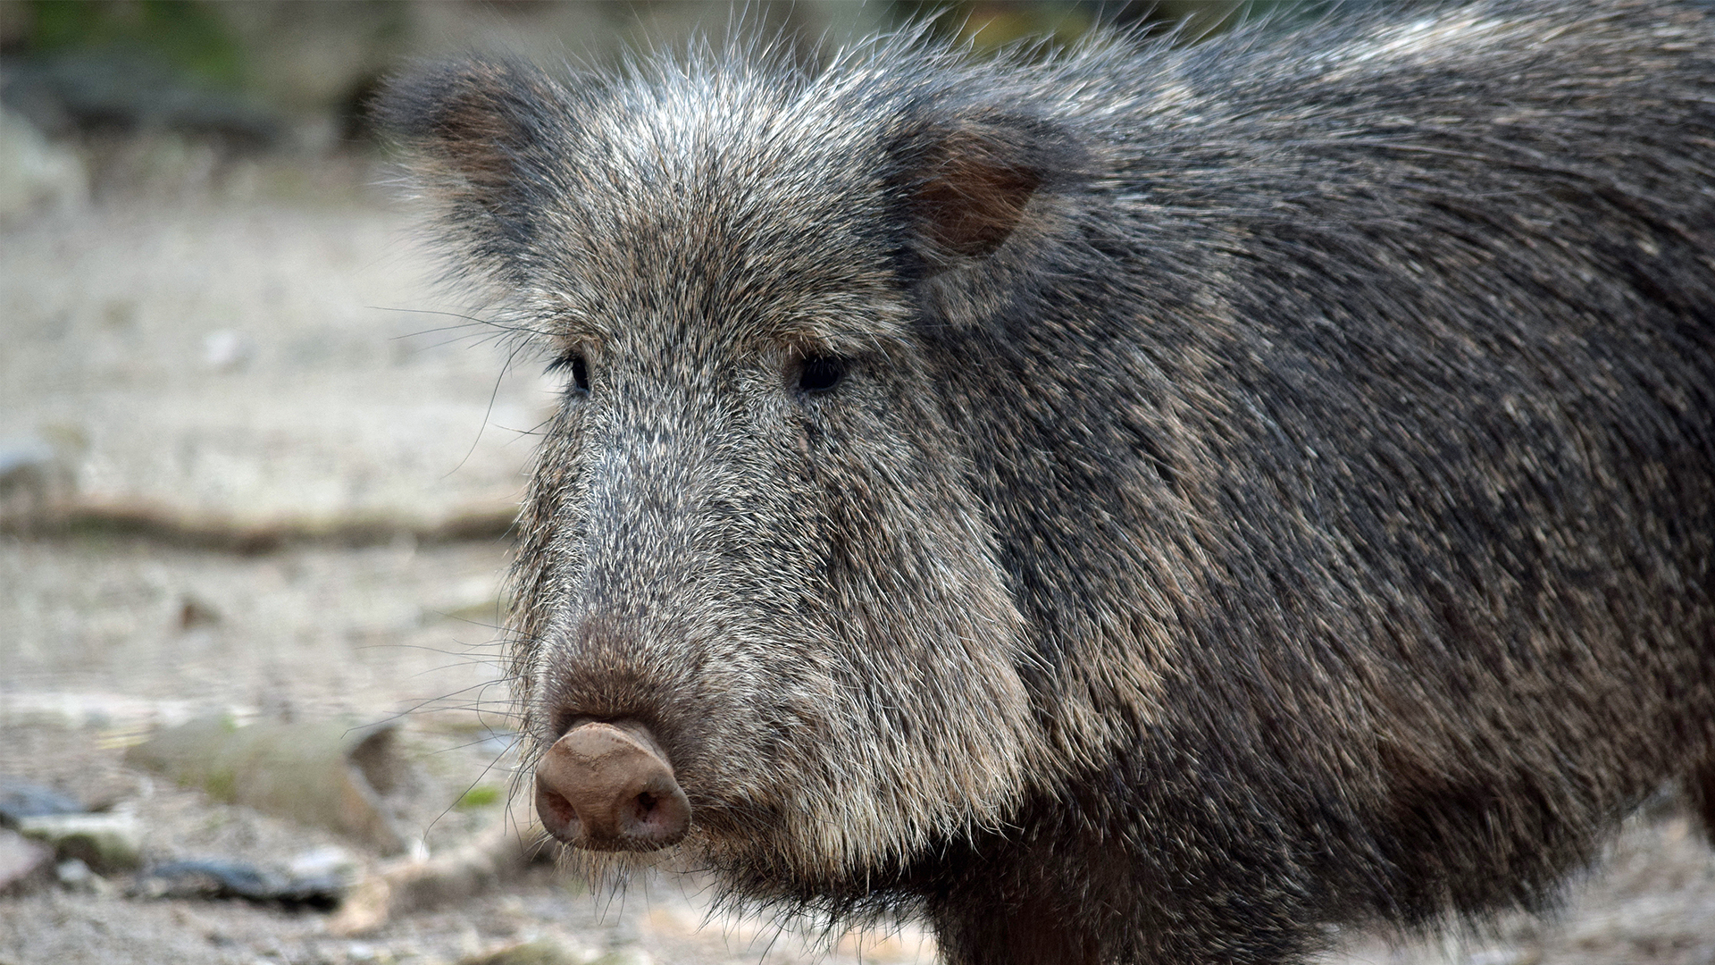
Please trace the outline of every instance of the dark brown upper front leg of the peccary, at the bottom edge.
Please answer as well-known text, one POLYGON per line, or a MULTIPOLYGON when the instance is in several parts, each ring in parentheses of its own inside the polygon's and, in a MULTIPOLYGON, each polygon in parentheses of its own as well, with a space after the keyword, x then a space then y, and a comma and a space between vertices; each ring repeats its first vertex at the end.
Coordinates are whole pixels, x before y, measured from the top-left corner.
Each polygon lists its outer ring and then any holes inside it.
POLYGON ((907 888, 948 965, 1278 965, 1315 951, 1305 884, 1266 845, 1230 852, 1188 821, 1046 800, 1010 833, 940 852, 907 888))

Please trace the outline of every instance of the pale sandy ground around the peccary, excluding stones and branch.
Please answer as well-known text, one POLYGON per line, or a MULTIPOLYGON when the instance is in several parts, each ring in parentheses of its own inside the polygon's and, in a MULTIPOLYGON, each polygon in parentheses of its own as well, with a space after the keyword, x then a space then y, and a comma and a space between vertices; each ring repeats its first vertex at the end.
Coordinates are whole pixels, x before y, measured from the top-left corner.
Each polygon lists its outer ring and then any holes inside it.
MULTIPOLYGON (((533 362, 501 378, 492 331, 429 287, 432 259, 372 187, 372 161, 149 149, 172 155, 166 189, 0 227, 0 446, 51 453, 41 491, 7 498, 84 512, 72 529, 0 534, 0 776, 135 814, 146 865, 338 848, 374 867, 353 840, 175 786, 125 752, 206 713, 403 714, 400 821, 442 853, 499 817, 502 795, 466 792, 513 776, 496 627, 508 560, 492 527, 434 534, 504 517, 547 383, 533 362), (271 527, 310 537, 261 553, 196 537, 271 527)), ((935 960, 912 922, 832 951, 760 919, 703 927, 695 876, 612 895, 539 867, 358 938, 331 934, 324 912, 130 884, 0 898, 0 963, 451 963, 535 939, 609 965, 935 960)), ((1329 965, 1710 965, 1715 853, 1664 795, 1552 920, 1338 938, 1329 965)))

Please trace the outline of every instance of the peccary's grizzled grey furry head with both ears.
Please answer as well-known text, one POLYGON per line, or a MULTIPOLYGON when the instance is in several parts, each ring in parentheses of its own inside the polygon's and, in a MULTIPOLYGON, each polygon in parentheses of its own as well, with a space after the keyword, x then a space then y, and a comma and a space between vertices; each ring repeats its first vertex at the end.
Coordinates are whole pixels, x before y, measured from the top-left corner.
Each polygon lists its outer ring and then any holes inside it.
POLYGON ((1044 768, 935 331, 1032 283, 1087 161, 933 72, 744 62, 472 62, 384 115, 564 376, 514 572, 527 730, 647 735, 624 754, 671 768, 688 847, 808 895, 995 826, 1044 768))

